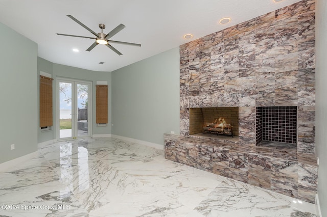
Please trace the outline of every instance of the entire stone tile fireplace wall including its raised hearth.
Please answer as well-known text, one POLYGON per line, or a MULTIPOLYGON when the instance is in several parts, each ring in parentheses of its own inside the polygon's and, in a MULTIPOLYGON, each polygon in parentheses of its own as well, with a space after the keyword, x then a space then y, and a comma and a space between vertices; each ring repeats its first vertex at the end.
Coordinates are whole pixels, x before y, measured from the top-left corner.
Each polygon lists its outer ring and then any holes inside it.
POLYGON ((180 136, 165 156, 314 203, 315 1, 180 46, 180 136), (256 106, 297 106, 297 149, 256 147, 256 106), (190 108, 239 107, 239 140, 189 138, 190 108))

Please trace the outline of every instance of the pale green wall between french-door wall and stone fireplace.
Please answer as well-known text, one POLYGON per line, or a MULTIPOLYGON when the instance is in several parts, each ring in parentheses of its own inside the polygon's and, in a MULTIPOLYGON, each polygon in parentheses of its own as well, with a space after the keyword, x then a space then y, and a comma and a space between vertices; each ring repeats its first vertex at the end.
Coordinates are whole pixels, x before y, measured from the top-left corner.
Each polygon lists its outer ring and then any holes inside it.
POLYGON ((112 72, 112 134, 164 144, 179 134, 179 48, 112 72))

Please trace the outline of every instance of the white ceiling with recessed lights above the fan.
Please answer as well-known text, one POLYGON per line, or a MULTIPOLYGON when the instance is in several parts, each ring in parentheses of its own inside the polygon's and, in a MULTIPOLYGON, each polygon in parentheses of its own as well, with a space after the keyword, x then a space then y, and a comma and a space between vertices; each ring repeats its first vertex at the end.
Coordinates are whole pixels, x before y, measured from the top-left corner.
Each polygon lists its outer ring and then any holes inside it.
POLYGON ((0 0, 0 22, 36 42, 38 56, 45 60, 94 71, 113 71, 299 1, 0 0), (93 39, 56 34, 94 37, 66 15, 74 16, 97 33, 101 32, 99 23, 106 25, 105 34, 122 23, 126 28, 110 40, 142 46, 112 43, 123 53, 121 56, 104 45, 85 51, 94 43, 93 39), (230 17, 231 22, 218 24, 223 17, 230 17), (194 37, 185 40, 183 35, 188 33, 194 37))

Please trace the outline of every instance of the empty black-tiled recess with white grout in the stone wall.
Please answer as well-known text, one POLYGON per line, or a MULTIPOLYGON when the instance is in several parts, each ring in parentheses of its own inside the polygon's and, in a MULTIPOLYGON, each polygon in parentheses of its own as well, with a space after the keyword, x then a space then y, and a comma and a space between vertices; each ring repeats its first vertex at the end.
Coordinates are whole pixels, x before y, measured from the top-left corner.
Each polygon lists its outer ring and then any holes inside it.
POLYGON ((267 106, 256 107, 256 141, 288 144, 297 147, 297 107, 267 106))

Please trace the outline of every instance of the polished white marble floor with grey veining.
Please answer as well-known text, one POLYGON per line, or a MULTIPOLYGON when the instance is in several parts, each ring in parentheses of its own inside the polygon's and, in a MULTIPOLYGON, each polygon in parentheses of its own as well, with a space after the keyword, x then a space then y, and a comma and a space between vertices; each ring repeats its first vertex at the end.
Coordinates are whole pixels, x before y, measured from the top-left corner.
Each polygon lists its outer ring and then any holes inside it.
POLYGON ((0 171, 0 216, 316 216, 315 205, 114 138, 58 142, 0 171))

